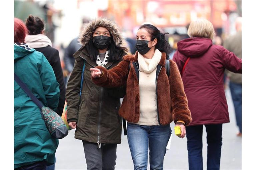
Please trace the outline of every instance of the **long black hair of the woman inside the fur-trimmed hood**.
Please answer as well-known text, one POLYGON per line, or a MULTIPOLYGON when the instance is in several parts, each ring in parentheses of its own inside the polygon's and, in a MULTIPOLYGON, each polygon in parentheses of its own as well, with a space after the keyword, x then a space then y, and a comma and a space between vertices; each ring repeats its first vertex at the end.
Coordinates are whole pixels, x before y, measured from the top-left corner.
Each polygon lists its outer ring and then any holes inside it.
MULTIPOLYGON (((95 28, 95 30, 96 30, 96 28, 95 28)), ((121 53, 127 52, 128 49, 126 47, 117 46, 116 43, 114 42, 114 39, 113 39, 113 36, 111 35, 111 33, 110 33, 110 38, 111 38, 111 40, 110 40, 110 44, 108 46, 108 49, 109 49, 109 59, 108 60, 109 61, 120 60, 122 58, 121 53)), ((91 60, 96 61, 97 56, 99 54, 99 50, 93 44, 92 36, 91 36, 88 44, 86 44, 86 47, 87 47, 87 51, 89 52, 91 60)))

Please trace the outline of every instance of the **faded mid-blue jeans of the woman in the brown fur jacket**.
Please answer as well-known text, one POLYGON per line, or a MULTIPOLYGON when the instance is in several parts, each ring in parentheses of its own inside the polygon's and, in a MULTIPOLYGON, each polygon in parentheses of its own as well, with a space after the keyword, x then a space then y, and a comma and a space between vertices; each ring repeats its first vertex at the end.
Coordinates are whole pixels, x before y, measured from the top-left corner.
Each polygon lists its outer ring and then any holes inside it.
POLYGON ((127 123, 127 138, 134 169, 147 169, 148 148, 150 169, 163 169, 170 135, 170 125, 142 126, 127 123))

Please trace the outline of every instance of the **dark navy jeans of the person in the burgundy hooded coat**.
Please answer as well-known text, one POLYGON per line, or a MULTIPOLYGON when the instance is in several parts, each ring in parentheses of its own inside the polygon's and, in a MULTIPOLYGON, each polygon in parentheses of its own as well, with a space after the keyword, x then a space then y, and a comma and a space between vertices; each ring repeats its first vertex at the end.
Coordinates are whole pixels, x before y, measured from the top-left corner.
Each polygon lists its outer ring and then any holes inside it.
MULTIPOLYGON (((220 169, 222 124, 205 125, 207 133, 207 169, 220 169)), ((203 169, 203 125, 186 127, 189 169, 203 169)))

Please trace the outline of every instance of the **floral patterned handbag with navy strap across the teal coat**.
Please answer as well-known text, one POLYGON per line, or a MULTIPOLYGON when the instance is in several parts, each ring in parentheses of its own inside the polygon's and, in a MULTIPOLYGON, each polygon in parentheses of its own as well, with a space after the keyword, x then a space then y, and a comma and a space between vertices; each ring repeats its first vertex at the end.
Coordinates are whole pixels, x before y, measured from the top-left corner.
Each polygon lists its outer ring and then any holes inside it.
POLYGON ((68 129, 61 117, 52 109, 43 106, 42 103, 36 98, 36 96, 29 90, 29 88, 22 82, 22 80, 20 80, 20 78, 15 73, 14 80, 40 108, 42 119, 44 120, 46 128, 48 129, 50 134, 57 139, 62 139, 63 137, 68 135, 68 129))

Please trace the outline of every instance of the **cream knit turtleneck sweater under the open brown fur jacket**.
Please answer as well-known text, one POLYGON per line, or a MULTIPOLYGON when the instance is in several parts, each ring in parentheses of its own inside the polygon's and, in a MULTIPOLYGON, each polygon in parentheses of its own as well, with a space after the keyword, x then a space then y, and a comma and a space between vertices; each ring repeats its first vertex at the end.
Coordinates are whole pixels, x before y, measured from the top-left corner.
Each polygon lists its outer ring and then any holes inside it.
POLYGON ((162 53, 156 49, 152 59, 144 58, 138 53, 140 119, 138 125, 159 125, 156 102, 156 67, 162 53))

